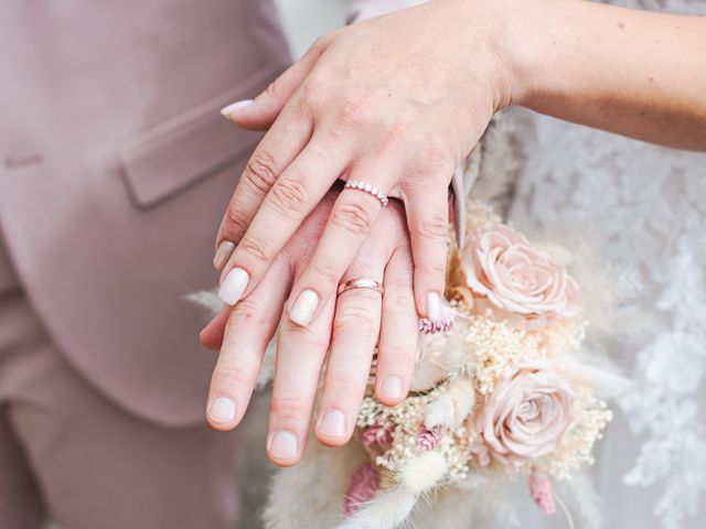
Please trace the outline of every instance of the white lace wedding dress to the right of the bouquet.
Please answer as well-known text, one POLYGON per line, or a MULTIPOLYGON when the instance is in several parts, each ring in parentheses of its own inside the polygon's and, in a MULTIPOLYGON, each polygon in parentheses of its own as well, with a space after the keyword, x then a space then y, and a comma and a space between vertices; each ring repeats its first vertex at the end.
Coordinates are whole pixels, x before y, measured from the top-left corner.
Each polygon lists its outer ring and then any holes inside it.
MULTIPOLYGON (((616 3, 706 14, 706 0, 616 3)), ((704 527, 706 154, 524 118, 531 120, 531 132, 521 136, 527 158, 510 219, 580 234, 617 274, 630 270, 642 285, 619 304, 621 336, 602 343, 635 381, 599 449, 602 527, 704 527)), ((566 527, 534 518, 522 527, 566 527)))

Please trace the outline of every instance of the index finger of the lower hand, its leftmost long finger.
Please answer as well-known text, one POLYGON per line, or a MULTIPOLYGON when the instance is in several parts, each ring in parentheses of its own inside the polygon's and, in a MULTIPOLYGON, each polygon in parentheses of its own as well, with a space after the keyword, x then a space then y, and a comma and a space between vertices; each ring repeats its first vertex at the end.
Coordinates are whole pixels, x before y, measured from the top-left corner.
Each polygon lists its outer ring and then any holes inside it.
POLYGON ((247 302, 231 309, 206 408, 216 430, 232 430, 243 419, 290 283, 289 267, 277 260, 247 302))

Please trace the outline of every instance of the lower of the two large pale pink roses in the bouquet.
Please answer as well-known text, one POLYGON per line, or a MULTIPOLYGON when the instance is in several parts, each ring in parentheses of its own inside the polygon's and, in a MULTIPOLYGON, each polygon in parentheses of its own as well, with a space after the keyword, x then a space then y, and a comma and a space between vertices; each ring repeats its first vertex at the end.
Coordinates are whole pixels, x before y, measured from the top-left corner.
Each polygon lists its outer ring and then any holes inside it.
POLYGON ((500 381, 477 415, 481 442, 506 465, 536 460, 556 450, 574 422, 573 406, 568 382, 548 365, 523 367, 500 381))

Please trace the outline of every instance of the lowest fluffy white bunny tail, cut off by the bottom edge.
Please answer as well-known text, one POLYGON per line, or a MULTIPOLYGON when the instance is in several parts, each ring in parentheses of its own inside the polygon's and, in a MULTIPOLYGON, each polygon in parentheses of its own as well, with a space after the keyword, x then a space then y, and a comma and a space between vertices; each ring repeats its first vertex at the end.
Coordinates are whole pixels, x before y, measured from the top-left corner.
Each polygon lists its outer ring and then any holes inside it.
POLYGON ((404 487, 393 488, 367 501, 338 529, 394 529, 405 522, 416 501, 404 487))

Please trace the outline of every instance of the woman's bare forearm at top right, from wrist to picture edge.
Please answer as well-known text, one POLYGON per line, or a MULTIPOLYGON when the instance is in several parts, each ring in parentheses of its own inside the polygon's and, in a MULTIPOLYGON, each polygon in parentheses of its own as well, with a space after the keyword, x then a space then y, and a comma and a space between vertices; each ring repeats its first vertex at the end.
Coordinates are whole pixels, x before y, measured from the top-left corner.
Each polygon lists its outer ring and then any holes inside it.
POLYGON ((578 0, 521 3, 509 12, 506 36, 521 86, 513 104, 706 150, 706 18, 578 0))

